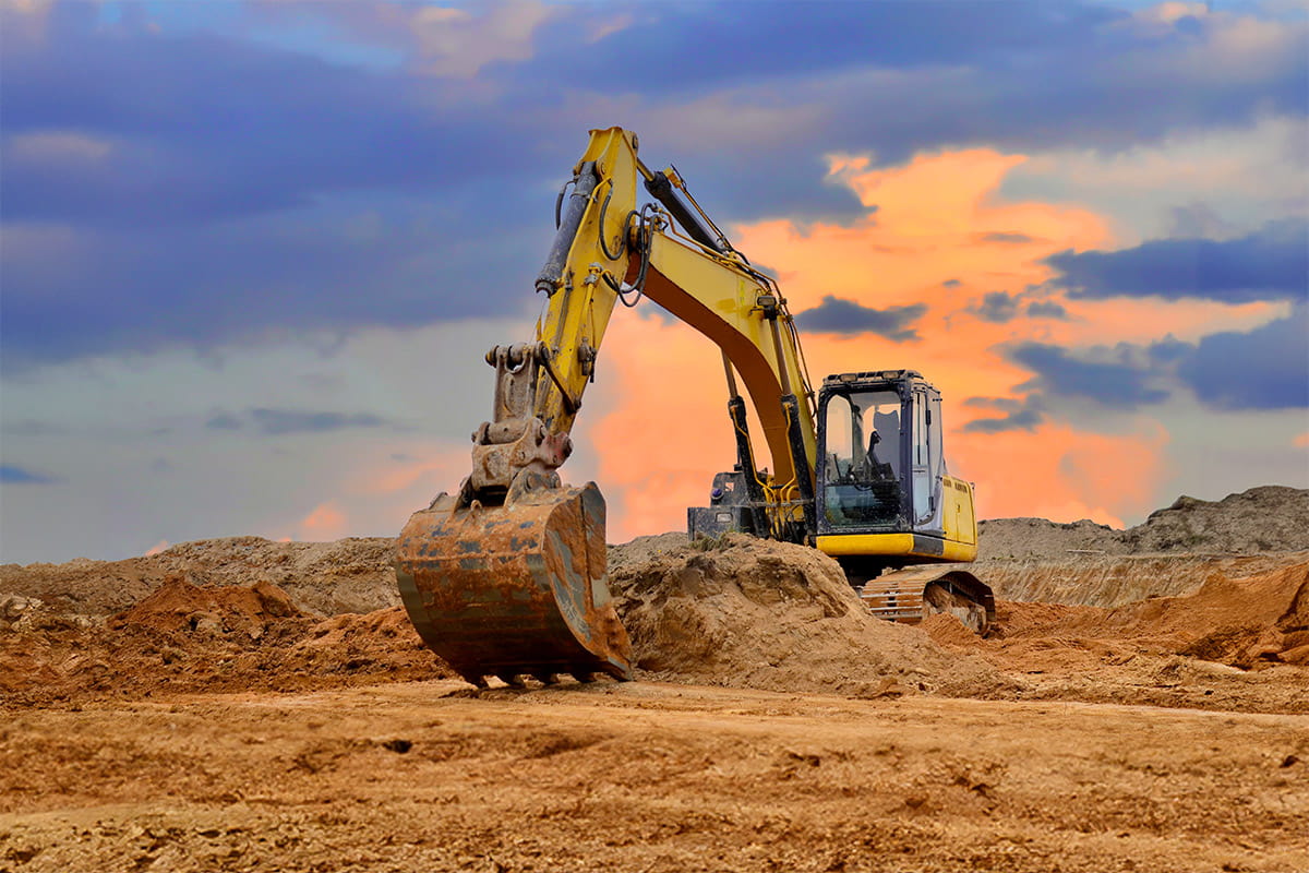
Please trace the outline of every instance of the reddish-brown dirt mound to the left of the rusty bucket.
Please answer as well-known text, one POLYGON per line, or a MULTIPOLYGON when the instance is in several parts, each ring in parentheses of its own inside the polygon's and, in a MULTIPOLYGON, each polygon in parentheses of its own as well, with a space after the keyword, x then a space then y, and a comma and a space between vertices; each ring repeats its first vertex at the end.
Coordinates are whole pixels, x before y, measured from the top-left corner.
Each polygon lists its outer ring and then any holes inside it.
POLYGON ((174 577, 98 620, 24 606, 0 628, 0 705, 450 675, 399 607, 319 620, 270 582, 200 588, 174 577))

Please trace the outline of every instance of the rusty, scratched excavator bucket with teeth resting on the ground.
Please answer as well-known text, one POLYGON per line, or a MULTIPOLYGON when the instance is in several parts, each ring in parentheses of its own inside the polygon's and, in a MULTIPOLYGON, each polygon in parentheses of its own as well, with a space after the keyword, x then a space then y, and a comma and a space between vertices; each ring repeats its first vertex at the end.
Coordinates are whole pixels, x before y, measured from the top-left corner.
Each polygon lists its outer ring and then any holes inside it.
POLYGON ((466 681, 632 678, 606 584, 605 499, 594 483, 501 507, 442 493, 401 533, 395 577, 423 641, 466 681))

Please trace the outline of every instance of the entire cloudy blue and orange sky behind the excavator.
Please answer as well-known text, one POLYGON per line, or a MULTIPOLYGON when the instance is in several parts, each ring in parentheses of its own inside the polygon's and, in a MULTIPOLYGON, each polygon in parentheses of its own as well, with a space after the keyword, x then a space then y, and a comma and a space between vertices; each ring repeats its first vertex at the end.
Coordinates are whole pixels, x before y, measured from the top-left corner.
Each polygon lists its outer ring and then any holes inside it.
MULTIPOLYGON (((471 469, 586 131, 911 368, 983 518, 1309 487, 1309 14, 1128 3, 0 0, 0 561, 394 535, 471 469)), ((609 539, 734 458, 619 309, 563 467, 609 539)))

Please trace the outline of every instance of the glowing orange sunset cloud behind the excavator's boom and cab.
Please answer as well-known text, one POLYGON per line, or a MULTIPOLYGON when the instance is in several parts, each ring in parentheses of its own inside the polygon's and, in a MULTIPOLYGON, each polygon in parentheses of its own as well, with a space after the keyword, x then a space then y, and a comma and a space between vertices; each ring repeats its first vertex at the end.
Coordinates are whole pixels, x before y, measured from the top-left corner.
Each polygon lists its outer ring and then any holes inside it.
MULTIPOLYGON (((870 209, 867 217, 804 229, 784 220, 764 221, 734 228, 733 236, 755 263, 778 272, 793 313, 818 306, 827 294, 873 309, 927 305, 912 325, 918 340, 806 334, 810 374, 817 382, 850 370, 923 372, 945 397, 946 455, 956 475, 978 483, 982 517, 1092 518, 1122 526, 1151 505, 1164 479, 1168 433, 1147 416, 1126 425, 1119 420, 1115 435, 1058 423, 1035 432, 963 432, 969 419, 992 415, 962 406, 963 399, 1017 399, 1016 386, 1033 376, 996 347, 1017 340, 1149 342, 1168 332, 1192 339, 1233 318, 1266 321, 1276 309, 1069 301, 1029 289, 1052 277, 1043 263, 1051 254, 1113 247, 1115 240, 1107 223, 1089 209, 1001 200, 997 191, 1005 174, 1025 160, 969 149, 869 169, 867 158, 834 157, 831 178, 857 194, 870 209), (1022 304, 1056 300, 1071 317, 1029 318, 1020 306, 1008 322, 987 321, 978 305, 983 294, 997 291, 1021 294, 1022 304)), ((610 539, 681 529, 686 507, 703 505, 713 472, 734 461, 719 352, 691 329, 649 310, 618 313, 605 347, 601 378, 617 381, 617 387, 607 390, 603 414, 584 427, 600 452, 610 539)), ((762 440, 755 444, 763 453, 761 466, 767 465, 762 440)))

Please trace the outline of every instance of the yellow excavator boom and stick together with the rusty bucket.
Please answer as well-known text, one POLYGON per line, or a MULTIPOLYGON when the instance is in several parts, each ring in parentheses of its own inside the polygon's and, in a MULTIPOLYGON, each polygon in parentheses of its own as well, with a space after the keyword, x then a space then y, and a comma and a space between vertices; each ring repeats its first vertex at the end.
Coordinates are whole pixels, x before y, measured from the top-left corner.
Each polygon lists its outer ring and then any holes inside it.
POLYGON ((548 297, 529 343, 487 353, 493 418, 474 433, 457 493, 414 513, 395 554, 404 606, 424 641, 463 678, 550 681, 631 674, 631 647, 606 585, 605 504, 594 483, 556 472, 619 301, 644 294, 721 349, 738 454, 770 527, 813 530, 813 394, 775 283, 732 249, 673 170, 649 170, 634 134, 590 134, 556 204, 558 230, 535 289, 548 297), (657 203, 639 207, 641 182, 657 203), (755 469, 749 393, 772 474, 755 469))

